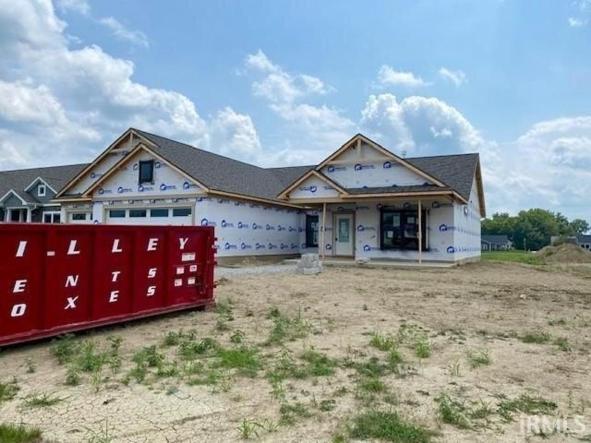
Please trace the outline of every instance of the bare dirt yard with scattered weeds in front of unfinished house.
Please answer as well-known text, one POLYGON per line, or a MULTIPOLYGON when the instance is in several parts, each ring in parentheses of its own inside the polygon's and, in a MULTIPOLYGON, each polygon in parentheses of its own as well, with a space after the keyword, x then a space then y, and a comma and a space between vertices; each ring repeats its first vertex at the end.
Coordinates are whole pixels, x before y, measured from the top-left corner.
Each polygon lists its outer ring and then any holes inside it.
POLYGON ((326 269, 216 296, 0 352, 0 424, 44 442, 591 441, 584 273, 326 269))

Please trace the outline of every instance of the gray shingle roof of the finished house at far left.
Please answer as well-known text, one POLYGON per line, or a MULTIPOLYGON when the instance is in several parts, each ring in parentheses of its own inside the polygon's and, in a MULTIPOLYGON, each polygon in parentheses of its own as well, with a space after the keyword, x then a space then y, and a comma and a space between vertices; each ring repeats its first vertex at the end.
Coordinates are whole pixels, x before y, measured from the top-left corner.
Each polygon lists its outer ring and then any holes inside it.
POLYGON ((41 204, 33 193, 25 191, 37 178, 59 191, 74 175, 82 171, 86 164, 30 168, 14 171, 0 171, 0 197, 13 191, 28 204, 41 204))

